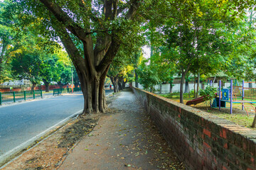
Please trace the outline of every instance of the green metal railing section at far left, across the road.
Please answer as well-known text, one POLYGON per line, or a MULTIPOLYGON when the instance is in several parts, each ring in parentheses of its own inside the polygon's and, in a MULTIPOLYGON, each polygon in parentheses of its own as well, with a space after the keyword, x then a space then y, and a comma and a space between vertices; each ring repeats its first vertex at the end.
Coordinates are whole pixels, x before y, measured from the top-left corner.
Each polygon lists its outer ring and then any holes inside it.
POLYGON ((36 91, 12 91, 12 92, 0 92, 0 105, 3 102, 8 102, 8 101, 21 101, 28 98, 33 98, 35 99, 36 97, 41 97, 43 98, 43 93, 41 90, 36 90, 36 91))

